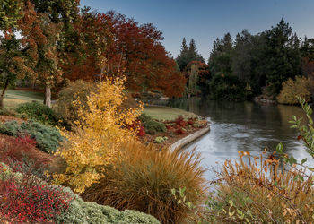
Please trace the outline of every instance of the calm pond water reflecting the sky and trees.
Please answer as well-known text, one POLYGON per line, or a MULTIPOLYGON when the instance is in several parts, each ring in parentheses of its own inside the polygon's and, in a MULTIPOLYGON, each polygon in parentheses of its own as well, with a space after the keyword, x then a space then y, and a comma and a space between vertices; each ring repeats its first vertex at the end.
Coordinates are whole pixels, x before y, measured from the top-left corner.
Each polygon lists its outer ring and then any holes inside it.
MULTIPOLYGON (((187 150, 196 148, 202 153, 202 165, 206 168, 217 168, 225 159, 237 159, 238 151, 249 151, 256 156, 265 148, 275 151, 279 142, 294 158, 309 157, 288 122, 292 115, 303 116, 301 108, 201 99, 172 101, 169 106, 204 116, 211 123, 208 134, 187 146, 187 150)), ((206 177, 213 179, 214 172, 209 169, 206 177)))

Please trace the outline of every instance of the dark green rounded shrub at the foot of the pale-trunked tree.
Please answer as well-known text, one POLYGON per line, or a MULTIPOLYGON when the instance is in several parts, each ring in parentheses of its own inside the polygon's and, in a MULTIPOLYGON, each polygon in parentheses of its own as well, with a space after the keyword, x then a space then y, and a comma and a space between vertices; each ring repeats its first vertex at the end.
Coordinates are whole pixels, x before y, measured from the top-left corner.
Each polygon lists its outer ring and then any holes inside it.
POLYGON ((42 124, 57 125, 58 122, 57 114, 51 108, 37 101, 20 104, 15 111, 42 124))

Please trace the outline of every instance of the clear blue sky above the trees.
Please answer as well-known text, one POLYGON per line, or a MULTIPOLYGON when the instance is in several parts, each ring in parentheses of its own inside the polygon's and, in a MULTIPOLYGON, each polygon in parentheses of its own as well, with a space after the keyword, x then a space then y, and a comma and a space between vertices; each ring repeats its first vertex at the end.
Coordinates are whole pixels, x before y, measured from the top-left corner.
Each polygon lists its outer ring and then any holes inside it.
POLYGON ((314 0, 81 0, 101 13, 126 14, 140 23, 153 23, 163 33, 163 45, 174 57, 182 39, 195 39, 208 60, 216 38, 241 30, 270 30, 283 18, 299 37, 314 38, 314 0))

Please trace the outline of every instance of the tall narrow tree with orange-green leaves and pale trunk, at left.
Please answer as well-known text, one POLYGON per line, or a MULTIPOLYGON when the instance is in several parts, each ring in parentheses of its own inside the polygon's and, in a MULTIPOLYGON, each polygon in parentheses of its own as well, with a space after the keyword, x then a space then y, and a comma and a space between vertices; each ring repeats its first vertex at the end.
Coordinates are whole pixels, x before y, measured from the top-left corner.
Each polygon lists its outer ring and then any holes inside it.
POLYGON ((57 57, 57 41, 62 23, 51 22, 47 13, 36 12, 34 5, 28 1, 19 24, 25 50, 32 62, 31 68, 36 73, 31 78, 45 87, 44 103, 51 107, 51 88, 62 78, 57 57))

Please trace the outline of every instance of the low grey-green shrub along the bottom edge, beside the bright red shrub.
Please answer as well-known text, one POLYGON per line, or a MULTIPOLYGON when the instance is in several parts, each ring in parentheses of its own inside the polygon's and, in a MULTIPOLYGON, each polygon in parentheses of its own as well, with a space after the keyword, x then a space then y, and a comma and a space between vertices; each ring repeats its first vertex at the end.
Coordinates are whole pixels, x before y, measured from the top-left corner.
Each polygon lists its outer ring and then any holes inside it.
MULTIPOLYGON (((13 171, 12 168, 6 166, 5 164, 0 163, 0 165, 3 168, 2 170, 0 170, 0 181, 7 181, 10 177, 14 177, 17 180, 25 179, 24 174, 13 171)), ((35 179, 35 181, 38 185, 47 185, 44 181, 39 181, 39 179, 35 179)), ((153 216, 144 214, 142 212, 129 210, 118 211, 109 206, 102 206, 95 202, 84 202, 81 197, 79 197, 77 194, 74 194, 67 187, 49 185, 48 189, 60 193, 61 195, 65 195, 68 199, 67 209, 63 209, 61 210, 61 212, 57 212, 57 216, 54 216, 54 219, 52 220, 53 223, 160 223, 158 220, 153 218, 153 216)), ((28 206, 29 203, 25 202, 24 206, 25 205, 28 206)), ((48 212, 51 213, 52 211, 48 212)), ((0 221, 4 221, 1 220, 1 218, 2 217, 0 217, 0 221)), ((12 221, 13 223, 21 223, 22 221, 19 218, 15 220, 13 220, 13 217, 11 218, 12 219, 10 219, 10 221, 12 221)))

